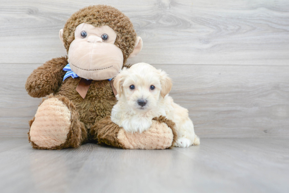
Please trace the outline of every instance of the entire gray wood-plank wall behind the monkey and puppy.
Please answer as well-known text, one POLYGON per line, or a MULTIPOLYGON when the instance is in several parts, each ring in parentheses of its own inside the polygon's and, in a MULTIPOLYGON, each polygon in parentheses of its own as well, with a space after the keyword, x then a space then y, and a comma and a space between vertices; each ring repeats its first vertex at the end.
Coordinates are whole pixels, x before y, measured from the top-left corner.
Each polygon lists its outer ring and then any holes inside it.
POLYGON ((41 99, 29 74, 66 55, 58 32, 78 9, 108 4, 144 45, 128 63, 170 74, 170 95, 201 138, 289 136, 289 1, 0 0, 0 135, 27 137, 41 99))

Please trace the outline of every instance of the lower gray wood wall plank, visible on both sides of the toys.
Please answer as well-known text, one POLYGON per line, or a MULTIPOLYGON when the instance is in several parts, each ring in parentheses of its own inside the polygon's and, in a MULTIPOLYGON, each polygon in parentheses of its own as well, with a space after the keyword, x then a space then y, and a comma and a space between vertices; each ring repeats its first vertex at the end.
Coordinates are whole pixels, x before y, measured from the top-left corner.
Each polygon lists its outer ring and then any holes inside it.
MULTIPOLYGON (((40 99, 31 98, 24 85, 37 66, 0 65, 2 135, 26 136, 27 122, 35 115, 40 99)), ((201 138, 289 136, 289 66, 155 67, 170 74, 174 83, 170 95, 188 108, 201 138)))

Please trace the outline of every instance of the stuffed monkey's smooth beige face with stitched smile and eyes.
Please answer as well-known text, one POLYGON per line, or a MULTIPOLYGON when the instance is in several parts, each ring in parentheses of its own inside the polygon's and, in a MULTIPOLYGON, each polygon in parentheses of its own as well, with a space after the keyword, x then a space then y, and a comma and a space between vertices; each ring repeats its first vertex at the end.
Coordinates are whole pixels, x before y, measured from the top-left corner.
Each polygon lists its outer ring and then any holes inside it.
POLYGON ((109 26, 82 23, 75 28, 75 39, 68 50, 71 70, 92 80, 113 78, 123 65, 123 53, 114 45, 116 32, 109 26))

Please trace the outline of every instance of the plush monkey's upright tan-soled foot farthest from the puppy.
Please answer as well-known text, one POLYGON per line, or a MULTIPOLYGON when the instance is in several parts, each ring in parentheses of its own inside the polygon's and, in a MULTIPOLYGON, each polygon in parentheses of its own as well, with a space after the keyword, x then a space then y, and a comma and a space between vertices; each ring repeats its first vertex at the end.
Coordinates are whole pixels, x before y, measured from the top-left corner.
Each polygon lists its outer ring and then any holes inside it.
POLYGON ((63 96, 49 95, 43 100, 29 125, 28 138, 35 149, 78 147, 82 133, 86 135, 74 105, 63 96))

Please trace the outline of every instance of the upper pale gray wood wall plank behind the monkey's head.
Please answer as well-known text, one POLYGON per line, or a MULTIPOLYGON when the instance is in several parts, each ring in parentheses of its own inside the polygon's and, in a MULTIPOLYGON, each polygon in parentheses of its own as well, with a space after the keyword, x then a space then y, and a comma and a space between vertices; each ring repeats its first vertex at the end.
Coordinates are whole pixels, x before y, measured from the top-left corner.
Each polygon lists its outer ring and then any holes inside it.
MULTIPOLYGON (((129 16, 142 52, 129 63, 288 65, 289 1, 108 0, 129 16)), ((65 55, 65 20, 95 1, 1 1, 0 63, 65 55), (17 56, 17 57, 15 57, 17 56)))

